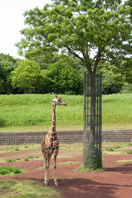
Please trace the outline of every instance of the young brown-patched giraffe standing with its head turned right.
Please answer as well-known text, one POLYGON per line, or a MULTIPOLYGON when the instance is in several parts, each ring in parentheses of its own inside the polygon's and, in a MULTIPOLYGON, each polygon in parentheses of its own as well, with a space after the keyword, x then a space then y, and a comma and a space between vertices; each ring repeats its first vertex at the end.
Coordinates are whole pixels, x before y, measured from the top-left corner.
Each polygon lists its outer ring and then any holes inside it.
POLYGON ((48 185, 49 183, 48 172, 49 172, 49 166, 50 166, 50 159, 51 159, 52 154, 54 154, 54 185, 58 186, 58 182, 56 178, 56 159, 59 153, 59 140, 56 134, 55 109, 56 109, 56 105, 66 106, 67 104, 61 98, 57 96, 55 96, 55 98, 51 101, 51 103, 52 103, 52 124, 47 135, 42 138, 41 149, 42 149, 42 154, 44 157, 44 174, 45 174, 44 184, 48 185))

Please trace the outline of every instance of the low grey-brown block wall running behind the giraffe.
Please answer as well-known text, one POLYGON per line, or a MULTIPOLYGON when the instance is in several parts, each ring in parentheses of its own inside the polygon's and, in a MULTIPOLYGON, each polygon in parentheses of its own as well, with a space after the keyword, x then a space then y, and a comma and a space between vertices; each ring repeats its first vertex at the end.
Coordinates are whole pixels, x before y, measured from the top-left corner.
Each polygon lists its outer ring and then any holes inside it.
MULTIPOLYGON (((0 133, 0 145, 40 143, 47 132, 0 133)), ((61 143, 83 142, 83 131, 57 132, 61 143)), ((132 142, 132 129, 102 131, 102 142, 132 142)))

